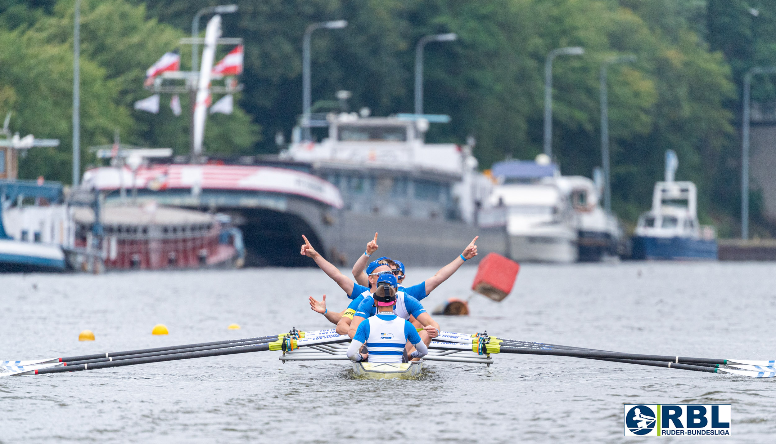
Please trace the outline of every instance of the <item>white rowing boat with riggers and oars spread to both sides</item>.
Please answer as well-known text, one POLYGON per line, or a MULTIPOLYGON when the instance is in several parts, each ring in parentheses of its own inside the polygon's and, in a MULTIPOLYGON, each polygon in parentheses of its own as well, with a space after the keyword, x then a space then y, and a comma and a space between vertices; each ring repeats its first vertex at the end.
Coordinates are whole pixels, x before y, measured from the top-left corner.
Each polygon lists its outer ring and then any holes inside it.
MULTIPOLYGON (((300 332, 296 329, 291 329, 287 333, 260 338, 230 339, 185 346, 166 346, 155 349, 97 353, 43 360, 6 360, 0 361, 0 377, 96 370, 135 364, 264 351, 282 352, 279 360, 283 363, 293 360, 348 360, 346 353, 350 341, 351 339, 348 336, 339 335, 333 329, 314 332, 300 332)), ((428 346, 428 354, 423 356, 418 363, 355 363, 353 368, 357 377, 369 379, 416 378, 421 374, 422 363, 426 361, 480 363, 490 366, 494 362, 490 356, 497 353, 569 356, 611 363, 629 363, 718 374, 727 373, 743 377, 776 377, 776 360, 729 360, 621 353, 542 342, 503 339, 489 336, 487 332, 474 334, 441 332, 438 337, 431 341, 431 344, 428 346)))

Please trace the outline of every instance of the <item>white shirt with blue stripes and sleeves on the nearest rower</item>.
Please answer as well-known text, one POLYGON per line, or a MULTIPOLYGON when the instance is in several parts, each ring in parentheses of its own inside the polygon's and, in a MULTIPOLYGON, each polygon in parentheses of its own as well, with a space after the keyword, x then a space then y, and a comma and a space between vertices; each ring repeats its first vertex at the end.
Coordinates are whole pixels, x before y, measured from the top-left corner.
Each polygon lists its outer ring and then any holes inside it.
POLYGON ((411 358, 422 357, 428 353, 428 348, 421 341, 414 325, 390 311, 381 311, 359 324, 359 329, 348 347, 348 358, 360 361, 359 350, 366 345, 370 363, 401 363, 407 341, 415 346, 411 358))

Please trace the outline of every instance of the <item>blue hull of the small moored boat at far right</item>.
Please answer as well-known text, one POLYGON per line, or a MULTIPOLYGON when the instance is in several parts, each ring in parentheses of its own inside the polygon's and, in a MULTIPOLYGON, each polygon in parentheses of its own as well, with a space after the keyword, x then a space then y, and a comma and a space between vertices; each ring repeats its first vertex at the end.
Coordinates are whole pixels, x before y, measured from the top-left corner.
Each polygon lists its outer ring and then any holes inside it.
POLYGON ((716 260, 717 241, 684 237, 633 236, 632 259, 716 260))

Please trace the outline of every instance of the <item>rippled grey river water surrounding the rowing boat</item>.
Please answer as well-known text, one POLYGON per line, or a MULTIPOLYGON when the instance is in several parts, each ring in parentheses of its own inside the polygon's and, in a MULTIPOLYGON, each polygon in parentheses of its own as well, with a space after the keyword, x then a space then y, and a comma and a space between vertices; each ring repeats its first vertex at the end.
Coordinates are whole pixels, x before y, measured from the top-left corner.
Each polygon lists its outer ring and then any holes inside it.
MULTIPOLYGON (((501 303, 474 296, 442 329, 632 353, 774 359, 772 263, 522 267, 501 303)), ((432 269, 408 270, 407 283, 432 269)), ((469 298, 463 267, 424 301, 469 298)), ((329 328, 317 269, 2 275, 0 359, 36 359, 329 328), (236 322, 241 330, 227 330, 236 322), (151 336, 163 323, 168 336, 151 336), (95 342, 78 342, 91 329, 95 342)), ((428 363, 421 380, 356 380, 279 352, 0 379, 0 442, 622 442, 622 404, 733 404, 731 438, 773 442, 776 379, 559 356, 428 363)), ((661 438, 695 442, 695 438, 661 438)))

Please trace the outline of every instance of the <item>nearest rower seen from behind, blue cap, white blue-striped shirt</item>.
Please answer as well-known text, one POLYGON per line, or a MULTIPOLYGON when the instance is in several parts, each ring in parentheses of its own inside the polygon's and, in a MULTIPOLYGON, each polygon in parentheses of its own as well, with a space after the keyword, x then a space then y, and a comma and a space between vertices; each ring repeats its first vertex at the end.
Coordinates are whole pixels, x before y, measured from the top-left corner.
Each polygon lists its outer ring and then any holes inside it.
POLYGON ((348 358, 355 362, 369 359, 370 363, 401 363, 404 346, 409 341, 415 348, 410 359, 419 359, 428 353, 414 326, 394 314, 397 305, 397 282, 393 274, 380 274, 372 294, 377 314, 361 322, 348 347, 348 358), (359 353, 366 345, 367 353, 359 353))

